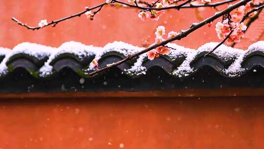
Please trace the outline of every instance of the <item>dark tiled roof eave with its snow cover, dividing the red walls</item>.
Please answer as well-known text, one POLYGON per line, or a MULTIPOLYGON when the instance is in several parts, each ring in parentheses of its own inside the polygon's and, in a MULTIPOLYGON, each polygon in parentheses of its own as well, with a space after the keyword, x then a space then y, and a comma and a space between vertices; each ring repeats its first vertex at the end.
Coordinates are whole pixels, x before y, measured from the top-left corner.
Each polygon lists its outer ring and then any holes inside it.
POLYGON ((203 56, 216 45, 207 43, 193 50, 168 44, 176 49, 168 55, 151 61, 143 54, 90 77, 92 59, 98 59, 102 68, 143 48, 123 42, 103 48, 77 42, 59 48, 22 43, 13 50, 0 49, 0 92, 264 88, 264 41, 248 50, 220 46, 203 56))

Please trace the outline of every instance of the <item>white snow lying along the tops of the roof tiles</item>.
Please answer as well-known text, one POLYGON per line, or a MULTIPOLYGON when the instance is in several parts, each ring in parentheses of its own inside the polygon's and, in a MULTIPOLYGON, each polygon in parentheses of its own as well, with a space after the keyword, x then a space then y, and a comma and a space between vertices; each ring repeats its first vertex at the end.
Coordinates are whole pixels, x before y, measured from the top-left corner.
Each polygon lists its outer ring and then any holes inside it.
MULTIPOLYGON (((178 77, 183 77, 194 73, 196 70, 190 67, 190 63, 196 58, 198 54, 204 51, 209 52, 213 50, 213 48, 215 48, 217 45, 218 43, 215 42, 206 43, 200 48, 198 48, 198 50, 193 50, 172 43, 167 44, 168 47, 175 49, 175 50, 172 49, 171 52, 167 54, 167 56, 172 61, 180 57, 186 57, 185 60, 182 62, 182 64, 178 68, 176 68, 176 70, 173 72, 173 75, 176 75, 178 77)), ((59 48, 52 48, 39 44, 32 44, 25 42, 17 45, 16 47, 13 48, 13 50, 0 48, 0 55, 5 55, 4 59, 0 63, 0 75, 4 75, 7 73, 6 62, 10 59, 11 56, 18 53, 28 54, 38 58, 39 60, 42 60, 44 57, 48 57, 48 60, 44 63, 44 66, 41 67, 39 70, 40 76, 45 77, 53 73, 53 68, 50 65, 50 62, 52 62, 58 55, 63 53, 74 54, 78 56, 80 60, 83 60, 87 56, 95 55, 95 59, 99 60, 102 57, 102 55, 110 51, 115 51, 117 53, 123 54, 124 56, 128 56, 129 54, 133 54, 141 50, 144 50, 144 48, 136 47, 131 44, 127 44, 124 42, 117 42, 117 41, 113 43, 109 43, 103 48, 87 46, 82 43, 73 42, 73 41, 66 42, 62 44, 59 48)), ((257 43, 252 44, 251 46, 249 46, 248 50, 246 51, 221 45, 213 53, 216 54, 220 59, 222 59, 225 62, 230 60, 234 61, 228 68, 225 68, 221 71, 222 74, 233 77, 233 76, 238 76, 245 71, 241 67, 241 63, 246 55, 254 51, 264 52, 264 41, 259 41, 257 43)), ((147 68, 142 65, 143 65, 143 61, 146 58, 147 58, 146 53, 140 55, 137 58, 134 65, 130 69, 125 70, 125 73, 130 75, 145 75, 147 68)), ((92 70, 95 70, 95 68, 93 67, 92 64, 90 64, 88 71, 92 71, 92 70)))

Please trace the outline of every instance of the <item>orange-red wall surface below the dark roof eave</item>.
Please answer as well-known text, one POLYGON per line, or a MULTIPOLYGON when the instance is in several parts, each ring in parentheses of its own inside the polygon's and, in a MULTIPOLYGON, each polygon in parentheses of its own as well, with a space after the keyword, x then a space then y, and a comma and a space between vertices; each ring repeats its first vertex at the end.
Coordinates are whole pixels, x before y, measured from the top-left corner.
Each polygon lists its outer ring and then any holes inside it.
POLYGON ((263 98, 1 99, 0 149, 263 149, 263 98))

